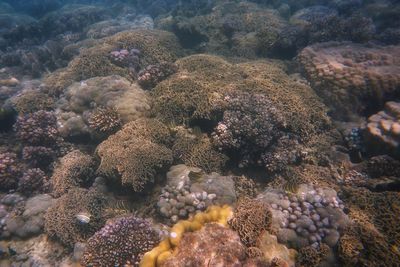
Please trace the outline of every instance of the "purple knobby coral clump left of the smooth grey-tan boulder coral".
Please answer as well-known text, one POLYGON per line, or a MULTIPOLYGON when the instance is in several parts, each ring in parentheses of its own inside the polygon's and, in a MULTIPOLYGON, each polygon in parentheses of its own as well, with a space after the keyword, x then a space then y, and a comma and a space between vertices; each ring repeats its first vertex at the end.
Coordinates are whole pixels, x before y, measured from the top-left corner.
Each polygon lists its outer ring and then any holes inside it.
POLYGON ((57 118, 53 112, 41 110, 20 116, 14 129, 17 137, 26 144, 51 146, 59 138, 57 118))

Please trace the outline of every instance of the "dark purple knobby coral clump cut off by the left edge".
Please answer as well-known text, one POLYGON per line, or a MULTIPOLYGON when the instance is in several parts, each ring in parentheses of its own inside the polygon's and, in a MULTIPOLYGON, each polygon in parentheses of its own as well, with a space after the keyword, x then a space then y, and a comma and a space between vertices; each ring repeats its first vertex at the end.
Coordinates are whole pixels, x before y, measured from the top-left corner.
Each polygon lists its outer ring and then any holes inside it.
POLYGON ((19 168, 17 155, 14 153, 0 153, 0 188, 13 189, 17 186, 19 168))

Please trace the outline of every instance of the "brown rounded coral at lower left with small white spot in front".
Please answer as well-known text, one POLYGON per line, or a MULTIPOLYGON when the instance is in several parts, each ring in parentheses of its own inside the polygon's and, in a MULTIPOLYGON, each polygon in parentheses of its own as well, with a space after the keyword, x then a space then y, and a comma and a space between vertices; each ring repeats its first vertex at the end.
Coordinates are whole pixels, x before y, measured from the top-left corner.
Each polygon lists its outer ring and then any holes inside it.
POLYGON ((105 205, 106 198, 96 190, 71 189, 47 210, 45 232, 72 248, 76 242, 85 242, 104 225, 105 205), (89 222, 78 220, 80 214, 89 217, 89 222))

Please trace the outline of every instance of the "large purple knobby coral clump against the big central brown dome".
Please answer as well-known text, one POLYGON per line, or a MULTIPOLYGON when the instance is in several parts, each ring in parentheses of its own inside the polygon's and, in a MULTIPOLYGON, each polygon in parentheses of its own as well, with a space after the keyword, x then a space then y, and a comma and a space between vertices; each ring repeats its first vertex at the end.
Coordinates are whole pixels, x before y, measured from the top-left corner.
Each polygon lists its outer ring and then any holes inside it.
POLYGON ((286 122, 262 94, 234 93, 225 97, 227 109, 212 134, 215 145, 237 155, 239 166, 262 164, 260 155, 284 134, 286 122))

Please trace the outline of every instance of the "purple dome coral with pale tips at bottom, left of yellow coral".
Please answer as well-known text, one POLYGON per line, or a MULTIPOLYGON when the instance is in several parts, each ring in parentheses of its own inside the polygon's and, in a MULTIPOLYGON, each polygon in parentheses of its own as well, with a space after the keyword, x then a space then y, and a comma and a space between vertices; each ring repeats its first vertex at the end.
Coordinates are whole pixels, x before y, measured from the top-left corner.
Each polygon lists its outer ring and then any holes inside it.
POLYGON ((83 266, 138 266, 143 254, 159 242, 149 221, 134 216, 107 223, 89 238, 81 259, 83 266))

